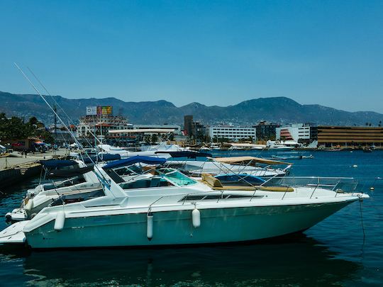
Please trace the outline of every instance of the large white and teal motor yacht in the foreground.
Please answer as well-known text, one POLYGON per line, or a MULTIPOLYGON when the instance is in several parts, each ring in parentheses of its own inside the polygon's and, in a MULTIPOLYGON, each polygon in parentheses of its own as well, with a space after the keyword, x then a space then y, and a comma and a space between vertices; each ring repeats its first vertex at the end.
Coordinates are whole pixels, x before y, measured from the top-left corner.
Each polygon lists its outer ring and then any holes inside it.
POLYGON ((123 181, 114 173, 118 164, 95 169, 102 196, 75 203, 62 196, 31 220, 1 231, 0 244, 50 249, 245 242, 304 231, 368 198, 340 190, 338 181, 332 187, 223 186, 209 174, 196 181, 161 167, 123 181))

